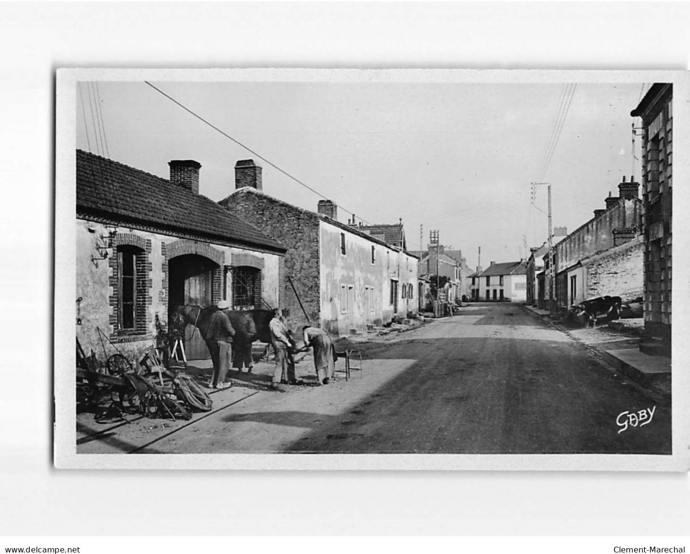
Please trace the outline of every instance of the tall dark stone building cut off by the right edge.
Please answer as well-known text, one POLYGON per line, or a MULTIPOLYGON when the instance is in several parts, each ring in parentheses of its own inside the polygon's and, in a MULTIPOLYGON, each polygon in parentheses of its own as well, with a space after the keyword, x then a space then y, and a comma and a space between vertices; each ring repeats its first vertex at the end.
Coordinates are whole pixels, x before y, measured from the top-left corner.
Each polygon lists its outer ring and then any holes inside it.
POLYGON ((631 116, 642 118, 644 328, 671 341, 673 85, 654 83, 631 116))

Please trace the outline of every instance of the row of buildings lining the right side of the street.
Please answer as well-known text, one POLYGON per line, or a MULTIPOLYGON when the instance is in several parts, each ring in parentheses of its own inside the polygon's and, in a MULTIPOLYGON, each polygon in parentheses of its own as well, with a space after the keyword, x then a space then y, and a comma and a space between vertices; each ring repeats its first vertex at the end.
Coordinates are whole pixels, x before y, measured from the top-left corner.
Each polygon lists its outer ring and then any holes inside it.
POLYGON ((641 197, 634 176, 623 177, 618 195, 609 192, 593 218, 554 237, 551 255, 546 243, 531 249, 530 305, 563 311, 598 296, 643 298, 645 329, 670 347, 672 99, 672 84, 654 83, 631 112, 642 119, 641 197))

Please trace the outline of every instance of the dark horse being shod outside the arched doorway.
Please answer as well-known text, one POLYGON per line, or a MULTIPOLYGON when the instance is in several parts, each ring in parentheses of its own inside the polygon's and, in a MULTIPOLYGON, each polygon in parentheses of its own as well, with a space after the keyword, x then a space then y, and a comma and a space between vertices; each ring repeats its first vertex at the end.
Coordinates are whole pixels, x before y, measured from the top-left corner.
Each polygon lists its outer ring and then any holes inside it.
MULTIPOLYGON (((177 306, 170 318, 170 327, 184 331, 186 325, 193 325, 199 329, 201 338, 208 346, 210 316, 216 311, 217 307, 201 307, 197 305, 177 306)), ((233 338, 233 367, 240 369, 244 362, 250 369, 253 366, 251 358, 252 343, 270 343, 270 329, 268 324, 273 319, 273 311, 267 309, 251 310, 223 310, 230 319, 230 325, 235 329, 233 338)))

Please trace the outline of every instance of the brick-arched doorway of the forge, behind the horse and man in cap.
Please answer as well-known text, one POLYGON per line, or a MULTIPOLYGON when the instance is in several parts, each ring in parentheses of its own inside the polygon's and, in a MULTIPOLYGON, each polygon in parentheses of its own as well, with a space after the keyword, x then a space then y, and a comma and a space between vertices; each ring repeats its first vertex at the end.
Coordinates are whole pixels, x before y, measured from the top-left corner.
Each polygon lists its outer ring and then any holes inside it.
MULTIPOLYGON (((219 265, 199 254, 182 254, 168 262, 168 314, 179 305, 210 306, 213 298, 213 274, 219 265)), ((189 360, 206 360, 210 353, 198 329, 185 329, 185 351, 189 360)))

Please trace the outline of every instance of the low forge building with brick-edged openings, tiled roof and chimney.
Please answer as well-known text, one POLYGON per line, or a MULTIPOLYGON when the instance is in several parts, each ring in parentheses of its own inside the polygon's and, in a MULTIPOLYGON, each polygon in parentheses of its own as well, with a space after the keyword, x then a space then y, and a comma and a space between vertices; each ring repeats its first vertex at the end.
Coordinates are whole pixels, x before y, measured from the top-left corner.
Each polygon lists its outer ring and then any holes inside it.
MULTIPOLYGON (((169 165, 168 180, 77 150, 77 338, 87 354, 102 356, 110 340, 138 360, 177 305, 279 304, 285 248, 199 194, 199 163, 169 165)), ((188 331, 188 357, 208 358, 188 331)))

